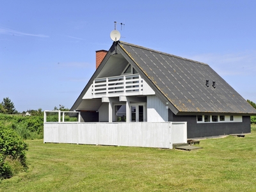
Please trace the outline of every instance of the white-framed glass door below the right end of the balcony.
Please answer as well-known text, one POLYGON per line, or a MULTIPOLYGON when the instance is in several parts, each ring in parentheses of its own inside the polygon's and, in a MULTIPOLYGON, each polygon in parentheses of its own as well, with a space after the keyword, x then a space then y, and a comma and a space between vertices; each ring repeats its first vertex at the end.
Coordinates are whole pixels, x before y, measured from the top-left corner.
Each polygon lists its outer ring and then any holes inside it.
POLYGON ((131 104, 131 122, 147 122, 146 104, 131 104))

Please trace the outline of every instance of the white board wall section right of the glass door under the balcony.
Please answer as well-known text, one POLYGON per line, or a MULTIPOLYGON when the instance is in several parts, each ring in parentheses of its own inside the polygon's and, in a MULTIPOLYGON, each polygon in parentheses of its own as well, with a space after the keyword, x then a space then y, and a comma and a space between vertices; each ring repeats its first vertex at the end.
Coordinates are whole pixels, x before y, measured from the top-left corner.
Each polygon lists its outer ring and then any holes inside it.
POLYGON ((156 95, 147 96, 147 122, 168 122, 168 109, 156 95))

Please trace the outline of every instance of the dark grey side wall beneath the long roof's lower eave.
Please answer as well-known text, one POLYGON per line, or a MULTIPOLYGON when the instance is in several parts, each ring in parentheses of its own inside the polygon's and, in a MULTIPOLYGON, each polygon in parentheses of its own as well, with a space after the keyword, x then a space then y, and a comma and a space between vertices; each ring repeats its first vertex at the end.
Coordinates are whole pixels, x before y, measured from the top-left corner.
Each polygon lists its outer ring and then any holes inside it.
POLYGON ((196 115, 174 115, 169 109, 169 122, 187 122, 188 138, 241 134, 251 132, 250 116, 243 116, 243 122, 197 123, 196 115))

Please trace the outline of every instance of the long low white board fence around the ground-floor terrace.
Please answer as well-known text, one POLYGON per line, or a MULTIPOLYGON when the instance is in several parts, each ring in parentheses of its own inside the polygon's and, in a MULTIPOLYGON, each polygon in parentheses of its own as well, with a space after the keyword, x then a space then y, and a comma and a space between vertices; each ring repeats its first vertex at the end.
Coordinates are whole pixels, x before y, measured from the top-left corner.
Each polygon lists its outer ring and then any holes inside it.
POLYGON ((187 123, 45 123, 44 143, 172 148, 187 143, 187 123))

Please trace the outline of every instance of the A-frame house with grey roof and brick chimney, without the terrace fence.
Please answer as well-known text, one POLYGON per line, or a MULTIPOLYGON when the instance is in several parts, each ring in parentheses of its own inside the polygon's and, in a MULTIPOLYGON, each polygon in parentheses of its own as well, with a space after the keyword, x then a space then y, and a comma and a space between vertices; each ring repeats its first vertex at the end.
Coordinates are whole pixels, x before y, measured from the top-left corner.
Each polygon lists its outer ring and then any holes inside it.
POLYGON ((188 138, 250 132, 255 109, 209 65, 119 41, 96 55, 71 108, 84 122, 187 122, 188 138))

